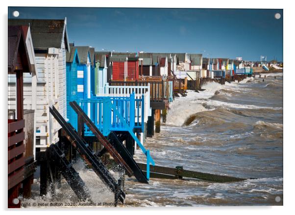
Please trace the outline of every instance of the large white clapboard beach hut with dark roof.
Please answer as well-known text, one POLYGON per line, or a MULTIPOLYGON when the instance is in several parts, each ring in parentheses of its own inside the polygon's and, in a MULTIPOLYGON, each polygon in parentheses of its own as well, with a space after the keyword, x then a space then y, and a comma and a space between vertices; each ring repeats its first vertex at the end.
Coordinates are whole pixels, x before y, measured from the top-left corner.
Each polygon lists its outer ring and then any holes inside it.
POLYGON ((67 21, 9 19, 8 25, 30 26, 38 80, 34 86, 37 77, 25 73, 24 107, 35 109, 35 147, 36 151, 45 151, 50 144, 59 141, 61 129, 49 114, 49 106, 54 105, 67 118, 66 52, 70 51, 67 21))

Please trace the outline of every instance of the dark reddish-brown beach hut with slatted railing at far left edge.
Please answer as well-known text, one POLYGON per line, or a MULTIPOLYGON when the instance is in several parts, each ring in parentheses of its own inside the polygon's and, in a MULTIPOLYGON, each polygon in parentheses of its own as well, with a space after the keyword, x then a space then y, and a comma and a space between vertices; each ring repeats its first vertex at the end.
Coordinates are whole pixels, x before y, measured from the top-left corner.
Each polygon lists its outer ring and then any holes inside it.
POLYGON ((36 81, 30 28, 8 26, 8 208, 20 208, 20 201, 13 200, 18 198, 22 182, 23 196, 30 197, 34 172, 34 115, 24 120, 25 73, 36 81))

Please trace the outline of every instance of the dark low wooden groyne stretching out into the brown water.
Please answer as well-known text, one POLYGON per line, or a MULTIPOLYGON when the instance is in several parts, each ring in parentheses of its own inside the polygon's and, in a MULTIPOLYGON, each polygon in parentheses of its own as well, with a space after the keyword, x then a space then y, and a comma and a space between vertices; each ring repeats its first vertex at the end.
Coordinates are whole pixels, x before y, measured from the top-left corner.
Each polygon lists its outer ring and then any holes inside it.
MULTIPOLYGON (((146 164, 142 164, 142 163, 137 163, 137 164, 143 171, 147 170, 146 164)), ((152 175, 154 175, 155 177, 161 176, 161 178, 169 178, 169 179, 172 178, 171 176, 174 176, 175 178, 188 177, 188 178, 197 178, 197 179, 202 179, 206 181, 215 181, 215 182, 234 182, 234 181, 246 180, 245 178, 237 178, 237 177, 232 177, 227 175, 195 172, 195 171, 183 170, 181 168, 171 168, 171 167, 161 167, 161 166, 150 166, 150 177, 152 177, 152 175), (169 176, 165 177, 166 175, 169 175, 169 176)))

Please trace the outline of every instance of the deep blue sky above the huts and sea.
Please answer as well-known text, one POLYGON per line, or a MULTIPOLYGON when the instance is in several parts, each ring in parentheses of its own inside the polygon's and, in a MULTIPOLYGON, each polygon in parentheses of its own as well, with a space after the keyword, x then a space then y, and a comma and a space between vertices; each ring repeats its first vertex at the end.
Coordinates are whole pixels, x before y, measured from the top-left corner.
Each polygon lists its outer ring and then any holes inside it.
POLYGON ((70 43, 115 51, 283 60, 282 9, 9 7, 8 18, 64 19, 70 43), (276 13, 281 14, 275 19, 276 13))

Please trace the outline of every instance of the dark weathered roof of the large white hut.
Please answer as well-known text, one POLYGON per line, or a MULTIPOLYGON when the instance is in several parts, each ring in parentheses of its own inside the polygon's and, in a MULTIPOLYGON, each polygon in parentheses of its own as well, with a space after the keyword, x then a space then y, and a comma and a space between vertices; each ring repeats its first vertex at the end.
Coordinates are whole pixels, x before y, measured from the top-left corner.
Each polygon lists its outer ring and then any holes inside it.
MULTIPOLYGON (((8 25, 29 25, 35 50, 47 50, 49 47, 61 48, 64 20, 8 19, 8 25)), ((67 37, 65 33, 66 49, 69 50, 67 37)))

